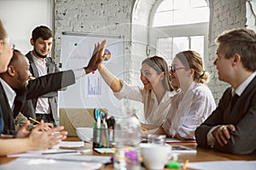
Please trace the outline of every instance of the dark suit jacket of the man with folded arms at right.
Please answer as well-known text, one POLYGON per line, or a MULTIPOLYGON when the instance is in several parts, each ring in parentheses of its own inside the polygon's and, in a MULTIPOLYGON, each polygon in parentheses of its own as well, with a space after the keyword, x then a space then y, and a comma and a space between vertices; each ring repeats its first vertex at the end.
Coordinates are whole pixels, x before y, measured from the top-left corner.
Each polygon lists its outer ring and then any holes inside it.
POLYGON ((235 132, 230 132, 228 144, 220 146, 216 141, 213 148, 232 154, 256 153, 256 77, 249 83, 231 111, 231 88, 228 88, 219 100, 218 108, 195 130, 195 139, 199 146, 207 145, 207 133, 212 127, 233 124, 235 132))

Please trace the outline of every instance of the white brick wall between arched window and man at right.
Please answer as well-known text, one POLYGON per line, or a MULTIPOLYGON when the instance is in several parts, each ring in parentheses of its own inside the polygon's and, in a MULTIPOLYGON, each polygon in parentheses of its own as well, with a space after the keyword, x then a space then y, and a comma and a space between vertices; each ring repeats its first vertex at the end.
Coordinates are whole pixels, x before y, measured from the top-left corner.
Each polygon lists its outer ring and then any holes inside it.
POLYGON ((213 65, 216 59, 217 45, 215 39, 220 33, 233 28, 246 25, 246 0, 211 0, 210 2, 210 28, 209 28, 209 59, 207 69, 211 74, 208 86, 216 103, 230 85, 218 80, 218 71, 213 65))

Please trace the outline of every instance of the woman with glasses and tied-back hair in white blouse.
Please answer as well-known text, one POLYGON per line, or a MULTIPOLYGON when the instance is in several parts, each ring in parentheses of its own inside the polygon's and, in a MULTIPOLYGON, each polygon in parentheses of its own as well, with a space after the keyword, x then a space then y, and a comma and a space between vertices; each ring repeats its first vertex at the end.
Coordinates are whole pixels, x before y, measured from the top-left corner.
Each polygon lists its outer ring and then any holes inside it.
POLYGON ((172 86, 179 88, 173 96, 166 122, 155 133, 166 133, 177 139, 195 139, 195 128, 215 109, 212 93, 207 88, 208 74, 200 54, 178 53, 170 66, 172 86))

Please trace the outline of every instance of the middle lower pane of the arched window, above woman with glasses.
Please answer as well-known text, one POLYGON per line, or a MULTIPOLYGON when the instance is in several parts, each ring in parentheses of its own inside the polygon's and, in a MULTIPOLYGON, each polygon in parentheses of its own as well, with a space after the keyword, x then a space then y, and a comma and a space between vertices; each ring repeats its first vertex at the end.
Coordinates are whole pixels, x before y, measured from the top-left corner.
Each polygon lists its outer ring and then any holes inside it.
POLYGON ((172 56, 189 49, 189 37, 173 37, 172 56))

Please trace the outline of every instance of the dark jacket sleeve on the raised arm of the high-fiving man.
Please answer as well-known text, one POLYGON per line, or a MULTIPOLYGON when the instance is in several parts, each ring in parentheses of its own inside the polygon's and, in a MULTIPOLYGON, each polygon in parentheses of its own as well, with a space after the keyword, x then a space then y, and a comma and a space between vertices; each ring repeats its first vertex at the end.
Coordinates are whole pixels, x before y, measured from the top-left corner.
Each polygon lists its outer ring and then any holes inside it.
POLYGON ((72 70, 55 72, 44 77, 38 77, 28 82, 26 99, 37 98, 60 88, 66 88, 74 83, 75 76, 72 70))

